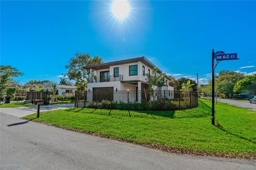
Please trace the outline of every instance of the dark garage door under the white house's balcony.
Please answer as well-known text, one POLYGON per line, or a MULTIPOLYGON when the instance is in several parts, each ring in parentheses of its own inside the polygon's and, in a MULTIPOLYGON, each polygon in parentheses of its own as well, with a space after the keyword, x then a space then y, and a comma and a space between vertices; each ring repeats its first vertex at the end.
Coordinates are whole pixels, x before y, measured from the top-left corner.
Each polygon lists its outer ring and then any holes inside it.
POLYGON ((94 87, 93 88, 93 101, 108 100, 113 101, 114 87, 94 87))

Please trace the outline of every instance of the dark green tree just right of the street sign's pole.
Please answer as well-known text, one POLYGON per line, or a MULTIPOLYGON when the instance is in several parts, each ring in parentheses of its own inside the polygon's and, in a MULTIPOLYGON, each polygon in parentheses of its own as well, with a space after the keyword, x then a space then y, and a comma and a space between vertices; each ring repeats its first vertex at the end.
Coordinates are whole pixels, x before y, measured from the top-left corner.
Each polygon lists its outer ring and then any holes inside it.
POLYGON ((236 73, 234 71, 222 70, 218 73, 216 78, 216 86, 220 94, 224 94, 225 97, 233 96, 233 88, 236 82, 245 78, 245 75, 236 73))

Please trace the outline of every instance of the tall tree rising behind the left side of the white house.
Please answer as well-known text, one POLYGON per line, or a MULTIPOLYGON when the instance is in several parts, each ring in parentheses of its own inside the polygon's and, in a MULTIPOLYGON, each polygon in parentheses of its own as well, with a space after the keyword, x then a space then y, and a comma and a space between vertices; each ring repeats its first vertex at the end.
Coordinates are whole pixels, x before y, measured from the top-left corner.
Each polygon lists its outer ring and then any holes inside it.
POLYGON ((68 69, 67 76, 70 80, 75 80, 77 89, 86 90, 90 71, 84 67, 99 63, 103 63, 99 56, 91 57, 89 54, 77 53, 75 57, 70 59, 69 65, 65 66, 68 69))

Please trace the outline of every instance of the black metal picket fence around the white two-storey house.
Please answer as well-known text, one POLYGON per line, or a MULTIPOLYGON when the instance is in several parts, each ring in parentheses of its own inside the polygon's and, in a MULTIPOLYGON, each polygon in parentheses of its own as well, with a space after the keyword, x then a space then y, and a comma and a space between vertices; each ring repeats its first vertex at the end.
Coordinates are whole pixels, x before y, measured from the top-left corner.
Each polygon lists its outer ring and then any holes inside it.
POLYGON ((198 105, 196 91, 76 91, 75 107, 128 110, 180 110, 198 105))

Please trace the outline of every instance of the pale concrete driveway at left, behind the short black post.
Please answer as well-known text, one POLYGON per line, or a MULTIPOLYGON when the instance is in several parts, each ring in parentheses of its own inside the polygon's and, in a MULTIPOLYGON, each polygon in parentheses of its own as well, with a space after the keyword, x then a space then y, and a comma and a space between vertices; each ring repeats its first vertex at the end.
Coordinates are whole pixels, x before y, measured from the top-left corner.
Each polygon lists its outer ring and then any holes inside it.
MULTIPOLYGON (((74 104, 53 104, 40 106, 40 112, 51 111, 56 109, 73 108, 74 104)), ((24 117, 36 112, 36 105, 32 107, 17 107, 17 108, 0 108, 1 113, 9 114, 15 117, 24 117)))

